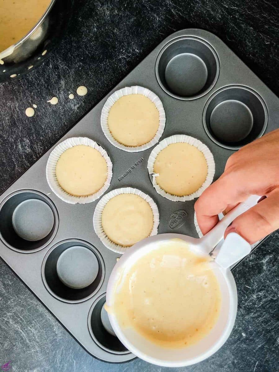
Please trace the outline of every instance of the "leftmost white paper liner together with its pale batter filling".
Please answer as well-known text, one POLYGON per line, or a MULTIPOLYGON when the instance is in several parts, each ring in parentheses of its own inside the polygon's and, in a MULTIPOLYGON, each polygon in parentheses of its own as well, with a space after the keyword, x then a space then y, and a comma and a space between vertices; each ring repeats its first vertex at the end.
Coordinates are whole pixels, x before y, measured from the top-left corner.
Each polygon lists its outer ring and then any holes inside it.
POLYGON ((58 144, 49 155, 49 187, 67 203, 90 203, 100 198, 112 179, 112 162, 106 151, 86 137, 58 144))

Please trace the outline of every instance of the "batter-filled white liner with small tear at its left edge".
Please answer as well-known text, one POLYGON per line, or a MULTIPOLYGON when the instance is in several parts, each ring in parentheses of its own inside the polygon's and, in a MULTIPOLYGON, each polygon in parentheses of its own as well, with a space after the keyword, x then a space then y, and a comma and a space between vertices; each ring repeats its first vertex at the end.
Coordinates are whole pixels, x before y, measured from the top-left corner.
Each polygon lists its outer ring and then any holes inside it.
POLYGON ((188 201, 198 198, 211 184, 215 163, 201 141, 173 135, 151 151, 147 169, 158 194, 171 201, 188 201))

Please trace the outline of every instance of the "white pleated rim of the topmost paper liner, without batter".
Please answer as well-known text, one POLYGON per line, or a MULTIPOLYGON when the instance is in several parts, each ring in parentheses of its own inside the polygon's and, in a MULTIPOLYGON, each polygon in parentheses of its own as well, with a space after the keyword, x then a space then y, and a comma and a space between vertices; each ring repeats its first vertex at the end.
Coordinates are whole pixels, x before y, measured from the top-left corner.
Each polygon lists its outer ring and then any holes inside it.
POLYGON ((163 108, 163 103, 160 101, 159 97, 156 96, 155 93, 151 92, 151 90, 139 86, 132 86, 132 87, 125 87, 119 90, 116 90, 111 96, 108 97, 106 100, 105 105, 102 108, 101 113, 101 127, 106 136, 113 146, 120 148, 121 150, 128 151, 130 153, 139 152, 147 150, 148 148, 154 146, 161 138, 163 134, 164 128, 166 124, 166 114, 163 108), (145 97, 148 97, 156 106, 159 112, 159 126, 155 136, 152 140, 146 144, 141 146, 132 147, 132 146, 125 146, 113 138, 112 134, 110 133, 109 126, 108 126, 108 116, 109 110, 112 108, 114 103, 123 96, 128 96, 128 94, 143 94, 145 97))

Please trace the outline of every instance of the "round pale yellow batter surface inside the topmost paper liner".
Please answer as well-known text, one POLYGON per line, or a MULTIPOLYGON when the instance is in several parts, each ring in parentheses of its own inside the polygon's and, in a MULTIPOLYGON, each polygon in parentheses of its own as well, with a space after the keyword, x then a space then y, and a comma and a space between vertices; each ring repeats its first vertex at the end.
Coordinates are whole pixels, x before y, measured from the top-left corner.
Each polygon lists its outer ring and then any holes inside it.
POLYGON ((159 127, 159 112, 143 94, 128 94, 109 110, 108 126, 112 137, 122 145, 141 146, 154 138, 159 127))

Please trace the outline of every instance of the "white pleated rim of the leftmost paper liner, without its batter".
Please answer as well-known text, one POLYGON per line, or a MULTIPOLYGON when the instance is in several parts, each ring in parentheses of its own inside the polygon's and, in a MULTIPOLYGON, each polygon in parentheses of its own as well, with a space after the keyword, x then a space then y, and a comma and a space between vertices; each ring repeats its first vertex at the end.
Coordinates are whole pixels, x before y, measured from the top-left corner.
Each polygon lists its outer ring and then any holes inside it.
POLYGON ((51 151, 48 161, 47 161, 46 175, 47 175, 47 181, 48 181, 49 187, 55 193, 55 195, 57 195, 58 198, 62 199, 64 202, 70 203, 70 204, 91 203, 94 200, 99 199, 100 196, 102 196, 103 193, 105 193, 106 190, 109 188, 110 181, 112 179, 112 162, 107 152, 101 146, 99 146, 95 141, 90 140, 87 137, 72 137, 72 138, 67 138, 67 140, 62 141, 51 151), (71 195, 67 191, 62 189, 62 187, 59 185, 57 178, 56 178, 56 173, 55 173, 56 164, 61 154, 64 153, 64 151, 66 151, 68 148, 71 148, 77 145, 86 145, 86 146, 90 146, 98 150, 99 153, 102 155, 102 157, 106 160, 106 164, 108 167, 108 177, 103 187, 101 187, 100 190, 98 190, 96 193, 92 195, 88 195, 88 196, 71 195))

